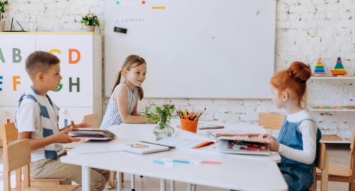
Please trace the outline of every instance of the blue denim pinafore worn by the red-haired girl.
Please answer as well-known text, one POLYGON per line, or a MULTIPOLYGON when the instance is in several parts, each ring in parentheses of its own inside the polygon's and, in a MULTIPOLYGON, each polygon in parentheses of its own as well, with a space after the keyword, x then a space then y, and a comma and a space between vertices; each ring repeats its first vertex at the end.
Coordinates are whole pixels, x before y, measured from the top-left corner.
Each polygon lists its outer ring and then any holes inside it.
MULTIPOLYGON (((311 119, 305 119, 314 122, 311 119)), ((280 129, 278 135, 278 143, 293 149, 303 150, 302 134, 298 131, 298 125, 300 122, 288 122, 287 118, 283 122, 283 126, 280 129)), ((322 134, 320 129, 317 129, 317 145, 320 142, 322 134)), ((318 151, 316 153, 317 158, 318 151)), ((278 163, 278 167, 283 173, 283 177, 288 183, 289 190, 308 190, 313 183, 313 169, 315 168, 315 161, 312 164, 300 163, 293 161, 290 158, 286 158, 281 155, 281 163, 278 163)))

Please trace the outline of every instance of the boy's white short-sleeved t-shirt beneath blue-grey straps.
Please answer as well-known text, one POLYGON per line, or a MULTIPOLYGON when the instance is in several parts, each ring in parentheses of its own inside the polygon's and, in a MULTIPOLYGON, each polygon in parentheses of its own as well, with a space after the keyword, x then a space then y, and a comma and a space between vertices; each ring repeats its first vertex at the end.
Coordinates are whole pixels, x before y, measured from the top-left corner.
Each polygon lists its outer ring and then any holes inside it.
MULTIPOLYGON (((38 96, 43 99, 43 103, 48 110, 50 116, 50 125, 58 127, 58 117, 55 116, 52 105, 47 97, 38 96)), ((38 103, 30 98, 23 98, 21 101, 20 108, 16 112, 16 122, 18 133, 21 132, 32 132, 31 139, 42 139, 43 138, 43 125, 40 117, 40 110, 38 108, 38 103)), ((57 151, 57 156, 62 154, 65 149, 63 149, 62 144, 55 144, 55 151, 57 151)), ((45 158, 45 149, 40 148, 35 151, 31 151, 31 161, 38 161, 45 158)))

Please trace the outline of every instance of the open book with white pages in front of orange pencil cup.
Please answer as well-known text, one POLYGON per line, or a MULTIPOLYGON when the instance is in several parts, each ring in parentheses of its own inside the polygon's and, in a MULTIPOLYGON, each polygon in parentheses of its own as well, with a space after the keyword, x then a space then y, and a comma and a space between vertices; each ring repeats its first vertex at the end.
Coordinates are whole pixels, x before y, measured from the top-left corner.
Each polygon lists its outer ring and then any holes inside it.
POLYGON ((200 134, 179 129, 175 132, 173 137, 165 137, 156 143, 167 146, 175 146, 177 149, 198 149, 203 146, 214 144, 216 141, 217 140, 204 137, 200 134))

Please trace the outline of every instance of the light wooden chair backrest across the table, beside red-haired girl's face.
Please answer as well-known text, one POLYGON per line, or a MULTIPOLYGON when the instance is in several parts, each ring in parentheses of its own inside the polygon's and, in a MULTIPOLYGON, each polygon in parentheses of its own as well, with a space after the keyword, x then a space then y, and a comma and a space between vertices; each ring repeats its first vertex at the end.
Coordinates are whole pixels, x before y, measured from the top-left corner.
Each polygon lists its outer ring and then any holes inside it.
POLYGON ((258 125, 265 127, 265 129, 280 130, 285 117, 284 114, 259 112, 258 125))

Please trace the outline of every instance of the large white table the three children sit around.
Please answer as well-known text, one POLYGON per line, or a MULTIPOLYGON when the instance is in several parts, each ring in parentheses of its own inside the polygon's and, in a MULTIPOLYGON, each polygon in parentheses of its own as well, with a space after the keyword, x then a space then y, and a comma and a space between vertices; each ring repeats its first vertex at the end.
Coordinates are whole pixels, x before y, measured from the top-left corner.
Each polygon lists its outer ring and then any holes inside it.
MULTIPOLYGON (((280 170, 275 162, 280 162, 277 153, 271 156, 249 156, 220 154, 208 148, 190 150, 173 150, 155 154, 138 155, 111 150, 111 145, 131 141, 155 141, 153 128, 156 125, 119 125, 109 127, 117 135, 117 139, 107 142, 89 141, 62 156, 63 163, 82 166, 82 189, 89 190, 89 168, 102 168, 119 172, 146 175, 162 178, 160 190, 165 190, 165 180, 178 180, 186 183, 223 187, 235 190, 288 190, 280 170), (221 161, 221 165, 186 165, 174 163, 168 168, 153 159, 187 158, 195 160, 221 161)), ((172 124, 173 127, 175 125, 172 124)), ((226 127, 236 128, 236 127, 226 127)), ((239 128, 256 128, 255 126, 239 126, 239 128)), ((264 132, 263 132, 264 131, 264 132)), ((205 134, 199 130, 198 134, 205 134)), ((206 135, 207 136, 207 135, 206 135)), ((120 175, 120 173, 118 173, 120 175)), ((121 179, 121 177, 119 177, 121 179)), ((119 180, 120 184, 121 181, 119 180)), ((121 186, 118 186, 120 190, 121 186)), ((188 190, 191 187, 187 187, 188 190)))

